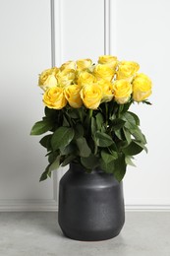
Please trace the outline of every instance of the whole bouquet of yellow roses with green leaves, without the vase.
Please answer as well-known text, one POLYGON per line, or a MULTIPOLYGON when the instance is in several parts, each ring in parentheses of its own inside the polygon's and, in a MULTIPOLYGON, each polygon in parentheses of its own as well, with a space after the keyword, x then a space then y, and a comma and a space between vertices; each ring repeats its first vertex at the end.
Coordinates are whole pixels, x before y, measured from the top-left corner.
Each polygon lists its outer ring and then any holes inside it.
POLYGON ((129 111, 134 102, 150 104, 152 83, 139 69, 134 61, 103 55, 97 64, 68 61, 39 75, 45 116, 30 134, 49 131, 39 142, 49 161, 40 180, 70 162, 88 172, 99 167, 122 180, 127 164, 134 165, 134 156, 147 151, 140 119, 129 111))

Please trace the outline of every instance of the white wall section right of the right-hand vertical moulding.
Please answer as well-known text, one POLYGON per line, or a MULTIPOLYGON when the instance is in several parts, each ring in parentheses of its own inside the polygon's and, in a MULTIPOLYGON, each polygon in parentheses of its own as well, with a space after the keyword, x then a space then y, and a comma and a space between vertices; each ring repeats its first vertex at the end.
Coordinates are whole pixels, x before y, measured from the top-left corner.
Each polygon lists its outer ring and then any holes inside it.
POLYGON ((152 106, 136 105, 148 155, 137 157, 124 184, 132 208, 170 209, 169 59, 170 1, 111 0, 111 53, 137 60, 152 79, 152 106))

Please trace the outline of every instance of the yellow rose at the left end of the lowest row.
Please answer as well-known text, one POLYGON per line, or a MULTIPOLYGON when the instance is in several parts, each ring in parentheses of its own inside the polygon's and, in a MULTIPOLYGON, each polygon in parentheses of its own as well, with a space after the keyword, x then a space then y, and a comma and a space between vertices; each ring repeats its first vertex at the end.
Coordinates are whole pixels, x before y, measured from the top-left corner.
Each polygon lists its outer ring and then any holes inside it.
POLYGON ((63 108, 67 104, 64 89, 60 87, 52 87, 47 89, 43 95, 43 102, 49 108, 63 108))

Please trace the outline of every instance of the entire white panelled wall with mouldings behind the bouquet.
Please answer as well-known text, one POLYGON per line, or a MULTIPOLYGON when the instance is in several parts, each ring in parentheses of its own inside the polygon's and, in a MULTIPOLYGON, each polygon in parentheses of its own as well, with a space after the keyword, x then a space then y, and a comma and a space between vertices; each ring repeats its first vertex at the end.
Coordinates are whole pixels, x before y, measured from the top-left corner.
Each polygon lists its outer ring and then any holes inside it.
POLYGON ((136 104, 148 154, 124 179, 126 209, 170 210, 170 2, 166 0, 1 0, 0 210, 57 210, 67 168, 38 182, 47 159, 30 137, 43 104, 37 75, 51 65, 102 54, 135 60, 153 81, 152 106, 136 104))

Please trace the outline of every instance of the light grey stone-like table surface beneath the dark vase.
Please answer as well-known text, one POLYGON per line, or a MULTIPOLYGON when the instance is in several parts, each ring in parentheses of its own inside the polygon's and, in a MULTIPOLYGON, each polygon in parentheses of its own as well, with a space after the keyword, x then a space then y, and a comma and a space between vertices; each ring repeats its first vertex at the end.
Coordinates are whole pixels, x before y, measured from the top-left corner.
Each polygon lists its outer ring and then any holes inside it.
POLYGON ((0 255, 170 255, 170 212, 127 212, 121 233, 97 242, 65 237, 57 218, 56 212, 0 213, 0 255))

